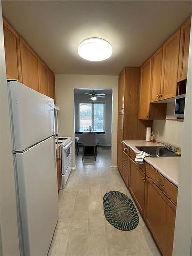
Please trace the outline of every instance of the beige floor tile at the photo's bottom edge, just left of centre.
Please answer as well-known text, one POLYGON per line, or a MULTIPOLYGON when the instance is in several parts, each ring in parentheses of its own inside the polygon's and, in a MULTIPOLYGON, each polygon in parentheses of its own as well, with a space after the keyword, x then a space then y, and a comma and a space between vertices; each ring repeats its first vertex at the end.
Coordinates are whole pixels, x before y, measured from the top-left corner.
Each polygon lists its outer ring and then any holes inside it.
POLYGON ((68 238, 66 256, 86 256, 88 248, 87 235, 71 235, 68 238))

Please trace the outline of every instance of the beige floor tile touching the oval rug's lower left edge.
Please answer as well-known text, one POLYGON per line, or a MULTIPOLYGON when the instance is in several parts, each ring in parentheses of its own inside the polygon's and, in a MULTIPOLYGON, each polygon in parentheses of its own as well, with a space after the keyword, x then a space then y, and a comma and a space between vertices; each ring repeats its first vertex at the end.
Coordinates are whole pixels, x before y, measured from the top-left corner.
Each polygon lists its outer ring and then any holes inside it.
POLYGON ((89 218, 88 220, 88 233, 89 234, 105 234, 104 217, 89 218))

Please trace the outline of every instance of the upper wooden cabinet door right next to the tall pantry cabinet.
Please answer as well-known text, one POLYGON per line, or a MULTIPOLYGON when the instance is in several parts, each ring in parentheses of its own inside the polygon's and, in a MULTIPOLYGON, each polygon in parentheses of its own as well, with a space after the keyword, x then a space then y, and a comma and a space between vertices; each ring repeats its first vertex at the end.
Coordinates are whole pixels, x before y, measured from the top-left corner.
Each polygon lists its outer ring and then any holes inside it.
POLYGON ((141 67, 139 119, 148 119, 150 111, 151 59, 141 67))

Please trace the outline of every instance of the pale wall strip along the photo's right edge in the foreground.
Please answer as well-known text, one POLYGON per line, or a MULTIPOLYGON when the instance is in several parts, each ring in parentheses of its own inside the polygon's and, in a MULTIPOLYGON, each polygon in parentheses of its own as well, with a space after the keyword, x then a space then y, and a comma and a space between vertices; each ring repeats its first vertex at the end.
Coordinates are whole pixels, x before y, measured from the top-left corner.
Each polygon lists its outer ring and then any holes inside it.
POLYGON ((188 63, 185 118, 183 124, 182 155, 179 172, 179 189, 176 211, 173 256, 189 256, 192 253, 192 27, 188 63))

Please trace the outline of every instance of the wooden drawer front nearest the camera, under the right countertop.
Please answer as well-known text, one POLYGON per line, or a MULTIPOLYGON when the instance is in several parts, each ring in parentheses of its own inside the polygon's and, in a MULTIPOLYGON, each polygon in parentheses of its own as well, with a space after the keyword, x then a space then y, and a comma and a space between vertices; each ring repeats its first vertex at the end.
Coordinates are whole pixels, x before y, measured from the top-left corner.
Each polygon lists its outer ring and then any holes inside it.
POLYGON ((176 205, 178 188, 161 175, 150 164, 146 164, 146 175, 161 189, 161 191, 176 205))

